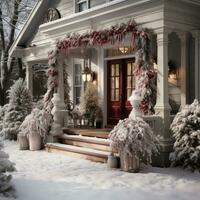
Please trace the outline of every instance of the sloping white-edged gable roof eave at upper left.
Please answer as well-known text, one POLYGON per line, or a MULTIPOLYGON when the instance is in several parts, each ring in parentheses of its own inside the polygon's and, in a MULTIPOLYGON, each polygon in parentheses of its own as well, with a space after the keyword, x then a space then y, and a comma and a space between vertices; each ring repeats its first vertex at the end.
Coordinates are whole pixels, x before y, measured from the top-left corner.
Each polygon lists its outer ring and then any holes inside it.
POLYGON ((50 0, 38 0, 33 7, 28 19, 23 28, 18 34, 9 50, 9 56, 13 56, 13 52, 17 46, 26 47, 27 43, 32 39, 36 33, 39 25, 42 23, 45 11, 48 9, 50 0))

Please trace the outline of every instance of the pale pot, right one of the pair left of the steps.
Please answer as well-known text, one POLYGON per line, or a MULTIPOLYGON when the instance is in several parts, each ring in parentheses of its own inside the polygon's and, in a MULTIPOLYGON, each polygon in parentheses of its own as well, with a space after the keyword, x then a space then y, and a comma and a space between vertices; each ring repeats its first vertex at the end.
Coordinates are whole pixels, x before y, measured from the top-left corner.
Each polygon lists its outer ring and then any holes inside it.
POLYGON ((29 135, 29 147, 31 151, 37 151, 42 148, 42 138, 37 133, 29 135))

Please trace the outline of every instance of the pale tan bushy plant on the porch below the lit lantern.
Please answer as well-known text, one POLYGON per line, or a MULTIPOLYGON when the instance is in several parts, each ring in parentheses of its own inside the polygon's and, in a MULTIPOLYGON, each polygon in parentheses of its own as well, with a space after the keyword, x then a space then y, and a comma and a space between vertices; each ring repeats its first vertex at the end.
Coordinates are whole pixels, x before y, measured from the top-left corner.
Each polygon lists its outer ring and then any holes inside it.
POLYGON ((88 82, 86 90, 80 99, 80 111, 88 114, 90 119, 94 121, 98 108, 99 104, 97 86, 92 82, 88 82))

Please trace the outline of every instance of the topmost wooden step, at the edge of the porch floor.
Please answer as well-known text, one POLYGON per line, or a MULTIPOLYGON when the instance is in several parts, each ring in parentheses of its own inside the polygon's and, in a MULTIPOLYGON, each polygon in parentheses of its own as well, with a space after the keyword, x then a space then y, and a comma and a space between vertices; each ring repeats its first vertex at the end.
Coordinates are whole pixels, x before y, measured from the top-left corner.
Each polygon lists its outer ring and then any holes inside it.
POLYGON ((88 137, 108 138, 111 129, 63 129, 63 132, 68 135, 82 135, 88 137))

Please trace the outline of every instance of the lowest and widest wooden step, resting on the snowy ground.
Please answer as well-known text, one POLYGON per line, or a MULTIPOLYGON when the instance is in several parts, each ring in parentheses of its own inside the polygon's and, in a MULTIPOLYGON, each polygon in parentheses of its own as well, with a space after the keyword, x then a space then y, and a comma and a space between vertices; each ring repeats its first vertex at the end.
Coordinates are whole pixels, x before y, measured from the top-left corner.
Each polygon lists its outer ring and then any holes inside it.
POLYGON ((72 145, 60 144, 60 143, 47 143, 45 145, 46 151, 62 153, 65 155, 79 157, 94 162, 106 163, 109 152, 89 149, 85 147, 77 147, 72 145))

